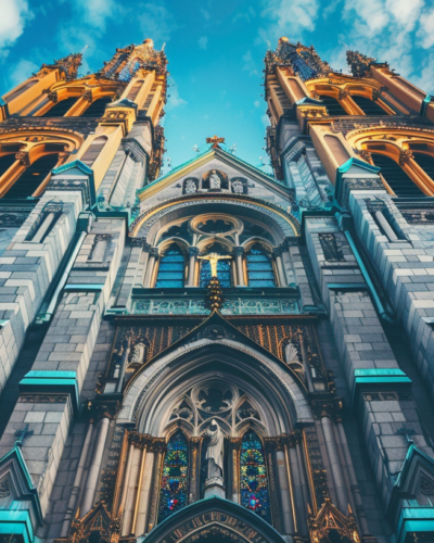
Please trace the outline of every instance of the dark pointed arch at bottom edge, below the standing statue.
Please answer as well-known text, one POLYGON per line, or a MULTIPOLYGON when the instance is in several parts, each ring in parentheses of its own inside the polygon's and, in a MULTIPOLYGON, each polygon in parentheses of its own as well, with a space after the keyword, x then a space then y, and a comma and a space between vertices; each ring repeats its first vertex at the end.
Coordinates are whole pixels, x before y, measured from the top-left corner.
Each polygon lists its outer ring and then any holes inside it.
POLYGON ((175 531, 180 538, 178 543, 191 541, 192 536, 197 543, 202 543, 202 536, 203 543, 212 543, 209 534, 219 541, 220 534, 228 533, 233 543, 251 543, 252 533, 256 543, 284 543, 282 535, 253 512, 220 497, 202 500, 175 513, 146 535, 146 543, 168 541, 175 531))

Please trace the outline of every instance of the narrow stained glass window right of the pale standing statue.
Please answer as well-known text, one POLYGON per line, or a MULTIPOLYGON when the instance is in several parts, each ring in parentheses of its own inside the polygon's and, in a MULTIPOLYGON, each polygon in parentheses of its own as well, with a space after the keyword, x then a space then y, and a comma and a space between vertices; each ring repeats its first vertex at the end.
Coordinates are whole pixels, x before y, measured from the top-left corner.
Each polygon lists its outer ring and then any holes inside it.
POLYGON ((253 430, 241 443, 241 505, 271 523, 270 498, 263 444, 253 430))

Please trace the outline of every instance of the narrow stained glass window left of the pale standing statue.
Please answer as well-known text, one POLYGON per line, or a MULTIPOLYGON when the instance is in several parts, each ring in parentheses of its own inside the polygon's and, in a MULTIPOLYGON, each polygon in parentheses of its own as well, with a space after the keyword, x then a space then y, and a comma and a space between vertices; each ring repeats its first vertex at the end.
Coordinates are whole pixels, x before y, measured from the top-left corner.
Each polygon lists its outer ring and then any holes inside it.
POLYGON ((188 470, 189 444, 186 435, 178 431, 167 443, 163 464, 158 522, 187 505, 188 470))

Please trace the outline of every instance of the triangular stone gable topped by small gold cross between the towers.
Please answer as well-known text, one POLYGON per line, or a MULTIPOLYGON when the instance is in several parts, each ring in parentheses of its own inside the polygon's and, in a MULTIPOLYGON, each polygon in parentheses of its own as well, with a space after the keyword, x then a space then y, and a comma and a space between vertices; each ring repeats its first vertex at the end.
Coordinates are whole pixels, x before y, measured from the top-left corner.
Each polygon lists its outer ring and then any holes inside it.
MULTIPOLYGON (((289 197, 289 189, 284 185, 220 148, 210 148, 197 157, 171 169, 168 174, 139 190, 138 195, 143 201, 170 186, 177 186, 188 180, 192 180, 200 192, 202 181, 206 181, 213 171, 217 171, 222 184, 225 178, 228 178, 229 181, 241 180, 241 182, 250 184, 250 186, 258 184, 280 198, 288 199, 289 197)), ((239 187, 240 189, 237 190, 241 190, 241 186, 239 187)), ((194 190, 192 184, 191 188, 194 190)), ((237 190, 233 190, 230 184, 225 188, 222 187, 222 191, 237 193, 237 190)))

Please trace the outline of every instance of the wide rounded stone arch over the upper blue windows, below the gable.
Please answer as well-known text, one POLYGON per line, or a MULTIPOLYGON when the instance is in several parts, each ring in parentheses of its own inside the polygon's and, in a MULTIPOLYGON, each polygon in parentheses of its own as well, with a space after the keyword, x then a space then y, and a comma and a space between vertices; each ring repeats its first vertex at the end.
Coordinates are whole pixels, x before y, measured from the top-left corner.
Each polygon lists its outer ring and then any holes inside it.
POLYGON ((130 226, 132 236, 145 237, 154 242, 157 231, 182 216, 194 216, 204 213, 224 213, 240 217, 256 217, 276 232, 276 241, 282 242, 285 237, 299 235, 299 224, 295 217, 282 209, 252 197, 218 194, 214 198, 186 195, 146 210, 130 226))

